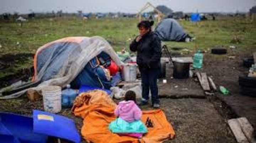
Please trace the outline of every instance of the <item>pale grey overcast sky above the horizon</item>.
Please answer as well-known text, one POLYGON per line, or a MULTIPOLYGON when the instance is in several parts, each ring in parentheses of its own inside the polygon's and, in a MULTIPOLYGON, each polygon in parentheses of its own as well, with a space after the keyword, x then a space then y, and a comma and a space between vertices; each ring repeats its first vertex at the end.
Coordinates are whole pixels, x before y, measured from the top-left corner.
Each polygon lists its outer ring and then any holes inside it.
POLYGON ((146 2, 184 12, 247 12, 256 5, 256 0, 0 0, 0 13, 29 13, 30 10, 137 13, 146 2))

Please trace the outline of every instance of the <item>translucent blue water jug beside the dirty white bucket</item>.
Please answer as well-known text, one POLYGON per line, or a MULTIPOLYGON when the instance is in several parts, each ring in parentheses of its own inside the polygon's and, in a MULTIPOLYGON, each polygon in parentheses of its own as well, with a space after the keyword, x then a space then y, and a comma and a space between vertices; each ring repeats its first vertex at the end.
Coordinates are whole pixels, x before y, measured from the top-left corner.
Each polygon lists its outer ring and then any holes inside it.
POLYGON ((62 106, 72 107, 76 96, 76 91, 70 88, 70 84, 67 84, 66 89, 62 90, 62 106))

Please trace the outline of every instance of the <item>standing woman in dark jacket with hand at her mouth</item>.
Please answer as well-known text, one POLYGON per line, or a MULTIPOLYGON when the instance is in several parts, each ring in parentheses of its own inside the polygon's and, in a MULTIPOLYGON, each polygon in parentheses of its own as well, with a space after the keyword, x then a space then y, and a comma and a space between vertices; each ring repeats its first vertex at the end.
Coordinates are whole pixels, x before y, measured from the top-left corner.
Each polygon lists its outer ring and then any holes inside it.
POLYGON ((138 24, 139 35, 130 44, 131 51, 137 51, 137 64, 142 76, 142 102, 148 104, 149 89, 154 108, 160 107, 157 78, 160 73, 161 43, 160 39, 151 31, 154 21, 141 21, 138 24))

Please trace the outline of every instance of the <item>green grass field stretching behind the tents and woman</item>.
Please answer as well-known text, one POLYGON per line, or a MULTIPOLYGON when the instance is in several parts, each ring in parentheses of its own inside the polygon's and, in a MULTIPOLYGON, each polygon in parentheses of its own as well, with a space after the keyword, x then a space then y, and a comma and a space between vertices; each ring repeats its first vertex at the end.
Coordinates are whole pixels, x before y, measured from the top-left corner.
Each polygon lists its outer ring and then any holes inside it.
MULTIPOLYGON (((108 40, 115 50, 129 47, 129 38, 137 34, 135 18, 90 19, 81 20, 77 17, 43 18, 24 22, 22 26, 16 22, 0 21, 0 56, 5 54, 35 53, 36 50, 53 40, 71 36, 91 37, 99 35, 108 40)), ((198 49, 209 50, 214 46, 235 45, 241 51, 256 49, 256 21, 241 18, 229 18, 216 21, 202 21, 198 24, 180 21, 182 27, 196 37, 198 49), (237 43, 237 38, 241 43, 237 43), (232 41, 233 40, 233 41, 232 41)), ((185 47, 191 51, 196 43, 166 42, 168 47, 185 47)), ((33 59, 16 62, 9 68, 0 71, 4 77, 21 68, 31 67, 33 59)))

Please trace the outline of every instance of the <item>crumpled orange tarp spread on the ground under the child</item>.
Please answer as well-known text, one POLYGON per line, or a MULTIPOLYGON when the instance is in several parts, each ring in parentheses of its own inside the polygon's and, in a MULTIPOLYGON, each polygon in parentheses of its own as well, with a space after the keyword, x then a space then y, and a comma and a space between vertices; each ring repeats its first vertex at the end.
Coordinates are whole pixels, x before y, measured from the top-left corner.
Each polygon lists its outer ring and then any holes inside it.
POLYGON ((156 143, 174 138, 175 132, 161 109, 143 111, 142 122, 149 117, 153 127, 142 139, 119 136, 108 129, 110 122, 116 119, 114 109, 116 104, 106 92, 94 90, 81 93, 72 108, 75 116, 84 119, 81 134, 87 142, 94 143, 156 143))

